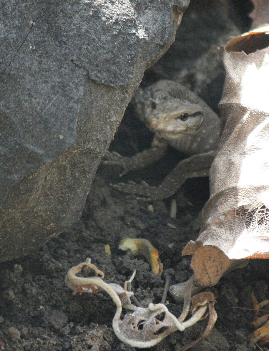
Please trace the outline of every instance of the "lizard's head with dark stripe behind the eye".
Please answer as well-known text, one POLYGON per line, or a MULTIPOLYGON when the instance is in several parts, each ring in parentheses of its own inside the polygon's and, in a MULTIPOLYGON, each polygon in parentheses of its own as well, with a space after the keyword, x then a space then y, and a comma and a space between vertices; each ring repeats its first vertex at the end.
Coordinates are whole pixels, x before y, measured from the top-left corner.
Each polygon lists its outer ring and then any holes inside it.
POLYGON ((151 111, 144 122, 165 139, 176 139, 179 134, 196 132, 203 121, 200 105, 181 99, 167 99, 151 111))

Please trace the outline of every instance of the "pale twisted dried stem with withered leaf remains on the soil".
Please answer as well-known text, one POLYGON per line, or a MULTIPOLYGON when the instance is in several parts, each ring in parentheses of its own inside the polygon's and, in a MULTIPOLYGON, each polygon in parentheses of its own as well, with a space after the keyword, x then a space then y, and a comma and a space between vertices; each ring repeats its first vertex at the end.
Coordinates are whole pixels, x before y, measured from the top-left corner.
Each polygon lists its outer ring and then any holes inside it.
MULTIPOLYGON (((204 318, 209 306, 209 315, 213 316, 214 310, 214 297, 210 298, 202 295, 198 302, 195 302, 193 309, 193 316, 183 321, 188 314, 190 305, 190 296, 192 284, 188 285, 187 302, 184 304, 183 314, 177 319, 170 313, 167 307, 160 304, 150 303, 147 308, 134 306, 130 298, 133 296, 131 283, 134 278, 135 272, 132 277, 125 283, 125 289, 117 284, 107 284, 103 281, 104 274, 93 265, 88 258, 86 262, 72 267, 66 276, 66 284, 73 290, 73 294, 80 293, 94 293, 96 291, 105 291, 112 298, 116 305, 116 313, 113 318, 113 330, 116 336, 122 341, 133 347, 146 348, 159 343, 163 338, 175 331, 183 331, 187 327, 195 324, 204 318), (88 277, 78 277, 77 274, 82 270, 88 277), (122 309, 128 312, 122 316, 122 309), (187 312, 186 312, 187 311, 187 312)), ((205 293, 202 293, 205 294, 205 293)), ((200 294, 201 295, 201 294, 200 294)), ((216 317, 209 317, 209 323, 203 337, 206 337, 212 329, 216 317)), ((201 340, 201 338, 199 339, 201 340)), ((192 345, 191 345, 192 346, 192 345)), ((189 346, 190 347, 190 346, 189 346)), ((187 350, 186 348, 184 350, 187 350)))

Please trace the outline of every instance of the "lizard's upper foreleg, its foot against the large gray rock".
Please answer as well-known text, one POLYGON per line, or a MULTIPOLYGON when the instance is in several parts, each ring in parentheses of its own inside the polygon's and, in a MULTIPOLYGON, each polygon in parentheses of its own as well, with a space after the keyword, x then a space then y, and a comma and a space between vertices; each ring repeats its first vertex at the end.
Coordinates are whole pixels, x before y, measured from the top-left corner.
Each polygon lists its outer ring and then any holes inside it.
POLYGON ((167 150, 167 143, 154 137, 152 146, 142 152, 137 153, 132 157, 123 157, 117 152, 110 152, 104 156, 102 164, 110 166, 120 166, 123 168, 120 176, 123 174, 139 170, 141 168, 152 165, 154 162, 163 158, 167 150))

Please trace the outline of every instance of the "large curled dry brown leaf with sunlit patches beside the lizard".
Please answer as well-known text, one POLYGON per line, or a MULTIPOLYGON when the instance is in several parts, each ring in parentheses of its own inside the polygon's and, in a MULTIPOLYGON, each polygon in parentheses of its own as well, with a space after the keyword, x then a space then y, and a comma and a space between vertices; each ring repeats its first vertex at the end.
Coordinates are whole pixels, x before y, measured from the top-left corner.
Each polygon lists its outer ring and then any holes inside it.
POLYGON ((215 285, 248 258, 269 258, 268 45, 269 26, 220 49, 226 69, 221 141, 209 174, 202 229, 182 252, 193 255, 200 286, 215 285))

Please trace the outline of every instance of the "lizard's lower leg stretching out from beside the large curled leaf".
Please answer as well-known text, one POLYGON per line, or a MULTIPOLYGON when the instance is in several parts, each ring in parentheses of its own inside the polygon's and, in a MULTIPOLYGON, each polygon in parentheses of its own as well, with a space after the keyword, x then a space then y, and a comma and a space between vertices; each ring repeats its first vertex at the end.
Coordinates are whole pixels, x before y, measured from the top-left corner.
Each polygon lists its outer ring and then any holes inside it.
POLYGON ((112 184, 112 186, 125 193, 141 195, 149 200, 162 200, 172 196, 188 178, 206 177, 215 157, 215 151, 193 155, 181 161, 158 186, 141 185, 129 181, 112 184))

